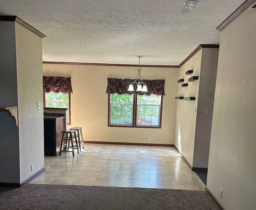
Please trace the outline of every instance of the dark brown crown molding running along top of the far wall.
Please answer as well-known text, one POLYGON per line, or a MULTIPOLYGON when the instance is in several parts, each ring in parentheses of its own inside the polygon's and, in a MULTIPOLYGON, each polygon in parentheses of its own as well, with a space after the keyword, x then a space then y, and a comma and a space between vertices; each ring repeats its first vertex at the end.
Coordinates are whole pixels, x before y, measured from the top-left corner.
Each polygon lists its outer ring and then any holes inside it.
MULTIPOLYGON (((45 64, 69 64, 69 65, 101 65, 101 66, 124 66, 138 67, 138 64, 118 64, 118 63, 80 63, 80 62, 59 62, 59 61, 43 61, 45 64)), ((178 65, 140 65, 141 67, 155 68, 178 68, 178 65)))

